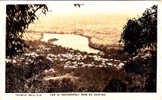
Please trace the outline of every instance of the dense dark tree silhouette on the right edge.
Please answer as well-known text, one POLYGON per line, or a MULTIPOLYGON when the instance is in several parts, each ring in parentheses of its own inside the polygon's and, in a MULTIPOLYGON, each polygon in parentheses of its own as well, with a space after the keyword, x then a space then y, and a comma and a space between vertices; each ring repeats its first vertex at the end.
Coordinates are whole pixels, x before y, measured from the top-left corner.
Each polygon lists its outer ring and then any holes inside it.
POLYGON ((124 43, 124 50, 130 54, 138 54, 142 48, 157 47, 157 5, 146 9, 138 19, 129 19, 123 28, 120 42, 124 43))

